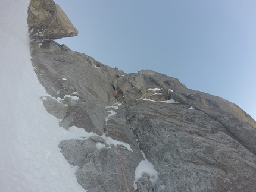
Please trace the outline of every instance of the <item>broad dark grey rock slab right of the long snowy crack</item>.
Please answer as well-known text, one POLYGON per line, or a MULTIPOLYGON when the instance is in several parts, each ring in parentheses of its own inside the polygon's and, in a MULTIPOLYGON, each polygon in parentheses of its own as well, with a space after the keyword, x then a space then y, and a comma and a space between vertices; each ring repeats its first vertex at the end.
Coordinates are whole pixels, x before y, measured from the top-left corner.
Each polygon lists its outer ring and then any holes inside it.
POLYGON ((181 103, 134 100, 127 108, 158 171, 155 191, 255 191, 256 156, 220 122, 181 103))

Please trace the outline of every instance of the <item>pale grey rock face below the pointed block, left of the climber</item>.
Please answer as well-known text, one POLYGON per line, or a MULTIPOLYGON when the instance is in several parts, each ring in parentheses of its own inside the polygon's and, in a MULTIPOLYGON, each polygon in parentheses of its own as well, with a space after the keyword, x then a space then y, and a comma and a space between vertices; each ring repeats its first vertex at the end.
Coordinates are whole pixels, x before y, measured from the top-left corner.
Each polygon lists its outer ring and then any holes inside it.
MULTIPOLYGON (((68 129, 75 125, 102 134, 108 115, 105 106, 116 102, 112 81, 126 74, 53 41, 32 42, 30 48, 39 81, 54 98, 52 108, 60 103, 65 106, 64 116, 63 110, 53 114, 61 117, 61 127, 68 129)), ((44 103, 49 111, 46 100, 44 103)))

